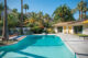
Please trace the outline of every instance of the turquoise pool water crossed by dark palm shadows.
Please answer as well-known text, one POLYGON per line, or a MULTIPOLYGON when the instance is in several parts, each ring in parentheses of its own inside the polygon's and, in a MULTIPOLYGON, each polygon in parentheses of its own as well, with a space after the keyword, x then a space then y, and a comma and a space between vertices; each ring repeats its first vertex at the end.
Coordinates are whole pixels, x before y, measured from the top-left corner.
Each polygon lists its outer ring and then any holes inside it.
POLYGON ((0 58, 75 58, 55 35, 28 35, 16 44, 0 47, 0 58))

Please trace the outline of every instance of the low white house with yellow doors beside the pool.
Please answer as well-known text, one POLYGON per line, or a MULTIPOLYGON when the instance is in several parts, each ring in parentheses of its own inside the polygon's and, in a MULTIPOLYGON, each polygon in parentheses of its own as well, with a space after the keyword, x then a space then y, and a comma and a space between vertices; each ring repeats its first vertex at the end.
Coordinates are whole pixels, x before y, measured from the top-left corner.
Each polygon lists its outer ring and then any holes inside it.
POLYGON ((61 22, 61 23, 54 24, 54 27, 55 27, 55 33, 88 35, 88 20, 61 22))

